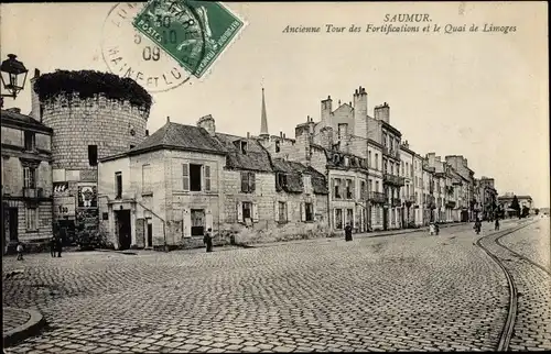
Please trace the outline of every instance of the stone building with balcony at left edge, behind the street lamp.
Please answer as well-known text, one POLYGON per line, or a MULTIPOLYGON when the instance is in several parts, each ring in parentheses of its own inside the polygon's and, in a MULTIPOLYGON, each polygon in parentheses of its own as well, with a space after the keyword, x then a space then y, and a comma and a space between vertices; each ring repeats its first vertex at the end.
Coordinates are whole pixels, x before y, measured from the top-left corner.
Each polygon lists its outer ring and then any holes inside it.
MULTIPOLYGON (((52 237, 52 129, 20 109, 1 110, 2 245, 52 237)), ((71 206, 74 210, 74 204, 71 206)))

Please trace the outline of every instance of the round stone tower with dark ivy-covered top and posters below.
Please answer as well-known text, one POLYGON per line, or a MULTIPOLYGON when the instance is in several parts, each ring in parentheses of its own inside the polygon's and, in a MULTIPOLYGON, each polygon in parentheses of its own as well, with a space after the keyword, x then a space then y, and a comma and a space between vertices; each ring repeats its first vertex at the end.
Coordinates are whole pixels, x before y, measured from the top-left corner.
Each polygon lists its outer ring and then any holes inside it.
POLYGON ((151 97, 112 74, 36 70, 32 115, 53 130, 55 222, 69 235, 99 228, 98 161, 127 152, 147 135, 151 97), (139 101, 139 97, 145 99, 139 101))

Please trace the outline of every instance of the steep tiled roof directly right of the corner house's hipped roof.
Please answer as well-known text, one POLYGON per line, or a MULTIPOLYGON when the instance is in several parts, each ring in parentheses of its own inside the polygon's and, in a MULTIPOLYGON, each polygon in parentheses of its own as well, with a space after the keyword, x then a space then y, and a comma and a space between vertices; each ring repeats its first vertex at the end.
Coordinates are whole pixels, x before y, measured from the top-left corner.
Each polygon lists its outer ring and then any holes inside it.
POLYGON ((227 152, 227 167, 256 172, 272 172, 270 155, 256 139, 216 133, 216 140, 227 152), (246 153, 241 153, 240 142, 247 142, 246 153))

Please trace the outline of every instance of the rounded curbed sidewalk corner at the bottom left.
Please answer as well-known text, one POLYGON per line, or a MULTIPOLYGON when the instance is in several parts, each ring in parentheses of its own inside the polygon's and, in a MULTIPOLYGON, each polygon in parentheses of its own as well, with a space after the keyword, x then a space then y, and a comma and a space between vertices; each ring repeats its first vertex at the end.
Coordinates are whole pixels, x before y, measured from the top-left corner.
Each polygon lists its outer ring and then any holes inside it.
POLYGON ((45 324, 46 321, 37 311, 3 308, 2 334, 4 347, 36 334, 45 324))

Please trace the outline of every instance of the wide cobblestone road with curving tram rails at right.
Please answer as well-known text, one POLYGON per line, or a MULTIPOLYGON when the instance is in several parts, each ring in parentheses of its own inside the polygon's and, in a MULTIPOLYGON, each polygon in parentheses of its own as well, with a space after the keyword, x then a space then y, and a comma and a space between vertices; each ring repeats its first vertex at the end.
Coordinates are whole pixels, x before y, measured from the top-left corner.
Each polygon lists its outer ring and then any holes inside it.
MULTIPOLYGON (((491 229, 484 223, 483 235, 491 229)), ((25 270, 3 281, 4 306, 37 309, 48 322, 40 336, 8 351, 491 351, 509 292, 504 270, 475 245, 478 237, 467 225, 437 236, 327 239, 210 254, 4 257, 4 272, 25 270)), ((501 242, 533 255, 541 247, 532 243, 542 237, 549 239, 549 219, 501 242)), ((544 263, 544 255, 533 257, 544 263)), ((514 350, 551 349, 544 274, 523 276, 519 291, 537 295, 519 305, 518 319, 528 324, 516 329, 514 350)))

